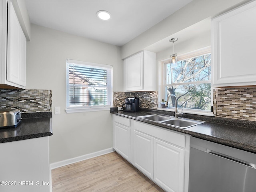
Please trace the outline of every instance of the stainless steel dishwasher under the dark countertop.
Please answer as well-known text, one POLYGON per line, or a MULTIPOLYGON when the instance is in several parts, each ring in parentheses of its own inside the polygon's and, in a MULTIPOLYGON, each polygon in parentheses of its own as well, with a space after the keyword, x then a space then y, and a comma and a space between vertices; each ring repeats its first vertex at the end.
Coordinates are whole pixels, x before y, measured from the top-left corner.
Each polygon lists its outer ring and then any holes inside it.
POLYGON ((256 192, 256 154, 190 138, 189 192, 256 192))

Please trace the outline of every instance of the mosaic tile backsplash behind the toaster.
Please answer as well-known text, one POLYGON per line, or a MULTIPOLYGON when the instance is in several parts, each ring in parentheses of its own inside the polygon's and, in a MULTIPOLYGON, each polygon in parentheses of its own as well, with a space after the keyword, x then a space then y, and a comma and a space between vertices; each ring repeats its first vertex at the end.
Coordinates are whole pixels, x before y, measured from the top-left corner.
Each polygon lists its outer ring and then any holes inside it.
POLYGON ((0 89, 0 110, 18 109, 22 113, 51 112, 52 90, 0 89))

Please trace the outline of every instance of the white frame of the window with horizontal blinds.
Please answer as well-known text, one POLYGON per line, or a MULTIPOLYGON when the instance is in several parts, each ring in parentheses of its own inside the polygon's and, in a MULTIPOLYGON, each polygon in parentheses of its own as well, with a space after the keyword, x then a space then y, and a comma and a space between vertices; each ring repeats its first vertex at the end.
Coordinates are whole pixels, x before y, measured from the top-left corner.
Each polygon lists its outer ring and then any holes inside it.
POLYGON ((113 106, 113 66, 106 64, 98 64, 92 62, 84 62, 78 60, 66 59, 66 113, 76 113, 76 112, 89 112, 89 111, 104 111, 110 110, 113 106), (69 106, 69 65, 76 64, 80 66, 88 67, 99 67, 106 68, 110 70, 110 77, 108 78, 107 92, 108 92, 108 104, 107 105, 96 105, 96 106, 69 106))

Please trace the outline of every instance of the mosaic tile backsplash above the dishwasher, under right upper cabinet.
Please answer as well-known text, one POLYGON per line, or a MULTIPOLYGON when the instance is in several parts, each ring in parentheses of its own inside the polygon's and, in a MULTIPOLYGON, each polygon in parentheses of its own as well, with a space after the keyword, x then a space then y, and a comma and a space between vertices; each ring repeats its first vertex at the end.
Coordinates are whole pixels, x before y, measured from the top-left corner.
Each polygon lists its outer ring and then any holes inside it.
POLYGON ((256 121, 256 87, 215 89, 214 114, 219 117, 256 121))

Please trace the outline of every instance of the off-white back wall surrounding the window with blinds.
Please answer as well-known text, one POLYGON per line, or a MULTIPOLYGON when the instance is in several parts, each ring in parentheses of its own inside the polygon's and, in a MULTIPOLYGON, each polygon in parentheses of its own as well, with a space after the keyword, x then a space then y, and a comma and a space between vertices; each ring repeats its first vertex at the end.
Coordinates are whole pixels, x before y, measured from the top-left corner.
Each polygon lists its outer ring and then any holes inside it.
POLYGON ((112 116, 109 111, 66 114, 66 59, 113 66, 113 90, 122 91, 120 47, 31 26, 27 42, 26 89, 52 90, 52 106, 60 114, 52 118, 50 163, 112 147, 112 116))

